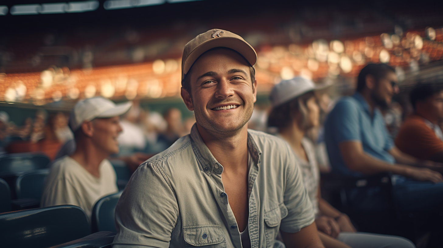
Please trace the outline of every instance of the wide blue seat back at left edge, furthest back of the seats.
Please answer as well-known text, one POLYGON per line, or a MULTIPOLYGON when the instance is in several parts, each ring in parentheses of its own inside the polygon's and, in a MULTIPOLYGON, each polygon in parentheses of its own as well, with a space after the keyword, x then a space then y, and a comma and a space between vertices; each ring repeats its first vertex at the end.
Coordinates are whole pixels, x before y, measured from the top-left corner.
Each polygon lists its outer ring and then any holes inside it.
POLYGON ((0 174, 44 169, 50 162, 46 155, 38 153, 5 154, 0 156, 0 174))

